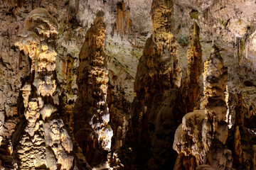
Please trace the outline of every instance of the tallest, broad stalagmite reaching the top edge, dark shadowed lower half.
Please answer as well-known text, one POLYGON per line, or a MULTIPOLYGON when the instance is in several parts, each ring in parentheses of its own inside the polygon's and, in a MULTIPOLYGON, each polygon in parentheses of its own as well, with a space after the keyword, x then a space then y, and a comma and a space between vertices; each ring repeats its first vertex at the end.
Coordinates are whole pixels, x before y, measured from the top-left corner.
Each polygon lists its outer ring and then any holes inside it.
POLYGON ((171 169, 175 152, 171 149, 174 132, 182 113, 178 101, 181 72, 176 57, 174 1, 153 1, 153 34, 146 40, 139 59, 132 103, 129 140, 137 155, 139 169, 171 169))

